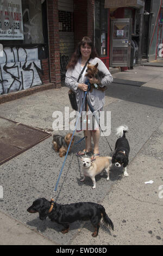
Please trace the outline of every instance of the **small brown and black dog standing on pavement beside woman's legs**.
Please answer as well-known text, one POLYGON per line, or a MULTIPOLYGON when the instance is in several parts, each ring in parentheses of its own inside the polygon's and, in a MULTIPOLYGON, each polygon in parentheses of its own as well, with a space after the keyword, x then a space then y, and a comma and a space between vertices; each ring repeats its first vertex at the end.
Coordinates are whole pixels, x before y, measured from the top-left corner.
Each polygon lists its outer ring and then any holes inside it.
MULTIPOLYGON (((70 144, 70 141, 71 141, 71 137, 72 137, 72 133, 67 133, 66 136, 53 135, 53 141, 52 141, 53 149, 59 152, 60 157, 63 157, 66 155, 68 145, 70 144)), ((74 142, 74 136, 72 138, 70 150, 73 145, 73 142, 74 142)))

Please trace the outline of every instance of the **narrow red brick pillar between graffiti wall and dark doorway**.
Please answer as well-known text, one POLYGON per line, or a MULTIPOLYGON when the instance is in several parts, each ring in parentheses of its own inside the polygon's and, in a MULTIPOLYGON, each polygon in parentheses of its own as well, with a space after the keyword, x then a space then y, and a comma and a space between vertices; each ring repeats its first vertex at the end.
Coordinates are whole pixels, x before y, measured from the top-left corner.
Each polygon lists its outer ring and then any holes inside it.
POLYGON ((49 35, 49 65, 51 82, 56 88, 61 87, 60 81, 60 48, 59 48, 59 23, 58 0, 47 1, 48 35, 49 35))

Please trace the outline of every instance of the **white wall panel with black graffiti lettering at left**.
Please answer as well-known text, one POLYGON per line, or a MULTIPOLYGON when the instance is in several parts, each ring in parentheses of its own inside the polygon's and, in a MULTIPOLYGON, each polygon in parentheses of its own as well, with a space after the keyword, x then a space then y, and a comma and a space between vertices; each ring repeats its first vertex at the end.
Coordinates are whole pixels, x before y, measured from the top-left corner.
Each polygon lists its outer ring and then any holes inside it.
POLYGON ((0 94, 42 84, 38 48, 5 47, 0 58, 0 94))

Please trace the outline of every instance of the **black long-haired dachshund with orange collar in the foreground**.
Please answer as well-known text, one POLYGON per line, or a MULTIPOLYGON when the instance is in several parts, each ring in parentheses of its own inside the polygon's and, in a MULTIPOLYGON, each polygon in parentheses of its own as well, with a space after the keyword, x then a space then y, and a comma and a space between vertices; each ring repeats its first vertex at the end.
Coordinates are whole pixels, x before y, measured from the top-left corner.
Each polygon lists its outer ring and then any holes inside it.
POLYGON ((92 236, 96 237, 98 235, 99 225, 101 218, 103 218, 103 223, 112 230, 114 225, 105 209, 102 205, 91 203, 91 202, 80 202, 74 204, 57 204, 53 200, 50 202, 45 198, 36 199, 32 206, 27 209, 30 214, 39 212, 40 220, 45 220, 48 216, 51 221, 55 221, 64 226, 61 231, 63 234, 67 233, 69 230, 69 225, 75 221, 90 220, 95 227, 95 232, 92 236))

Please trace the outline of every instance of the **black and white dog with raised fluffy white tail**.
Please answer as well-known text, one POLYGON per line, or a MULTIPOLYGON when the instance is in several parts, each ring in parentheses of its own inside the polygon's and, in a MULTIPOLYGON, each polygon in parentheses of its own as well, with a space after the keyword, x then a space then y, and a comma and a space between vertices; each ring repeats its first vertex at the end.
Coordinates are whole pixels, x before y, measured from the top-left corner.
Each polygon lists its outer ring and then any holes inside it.
POLYGON ((117 139, 115 144, 115 153, 112 156, 112 163, 115 163, 116 167, 122 166, 124 176, 128 176, 127 165, 130 146, 125 135, 125 133, 128 131, 128 127, 126 125, 120 126, 116 129, 116 131, 116 135, 120 138, 117 139))

